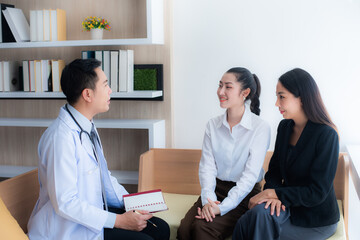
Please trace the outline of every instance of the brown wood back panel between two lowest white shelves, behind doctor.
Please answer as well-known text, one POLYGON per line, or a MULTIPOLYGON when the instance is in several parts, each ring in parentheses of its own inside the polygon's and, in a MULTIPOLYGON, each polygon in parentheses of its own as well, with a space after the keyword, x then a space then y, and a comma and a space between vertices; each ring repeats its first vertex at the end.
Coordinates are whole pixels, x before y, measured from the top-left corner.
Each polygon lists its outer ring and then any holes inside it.
MULTIPOLYGON (((0 165, 37 166, 38 143, 45 129, 0 127, 0 165)), ((139 157, 148 150, 147 130, 98 129, 98 132, 109 169, 139 169, 139 157)))

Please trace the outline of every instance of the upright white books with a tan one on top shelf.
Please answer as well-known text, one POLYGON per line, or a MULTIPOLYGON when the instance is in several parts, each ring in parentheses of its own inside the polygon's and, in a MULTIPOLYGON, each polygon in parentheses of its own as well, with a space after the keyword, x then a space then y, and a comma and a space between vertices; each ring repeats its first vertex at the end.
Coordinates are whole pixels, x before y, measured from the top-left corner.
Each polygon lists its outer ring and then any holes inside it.
POLYGON ((65 41, 66 12, 62 9, 30 10, 30 41, 65 41))

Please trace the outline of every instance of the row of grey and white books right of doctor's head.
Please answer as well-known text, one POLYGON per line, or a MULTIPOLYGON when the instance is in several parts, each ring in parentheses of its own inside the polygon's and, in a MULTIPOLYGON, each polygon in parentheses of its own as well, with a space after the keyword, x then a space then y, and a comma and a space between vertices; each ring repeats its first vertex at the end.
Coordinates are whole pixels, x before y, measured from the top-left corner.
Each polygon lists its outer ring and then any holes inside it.
POLYGON ((113 92, 134 91, 134 50, 82 51, 82 59, 96 58, 113 92))

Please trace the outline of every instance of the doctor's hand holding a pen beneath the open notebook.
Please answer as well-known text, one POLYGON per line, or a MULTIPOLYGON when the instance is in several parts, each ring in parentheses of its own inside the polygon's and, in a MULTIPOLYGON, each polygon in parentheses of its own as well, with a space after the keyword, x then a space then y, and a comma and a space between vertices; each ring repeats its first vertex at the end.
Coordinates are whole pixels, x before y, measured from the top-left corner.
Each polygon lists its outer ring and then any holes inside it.
POLYGON ((149 211, 137 210, 138 213, 129 211, 123 214, 116 214, 115 226, 116 228, 141 231, 147 226, 148 219, 153 215, 149 211))

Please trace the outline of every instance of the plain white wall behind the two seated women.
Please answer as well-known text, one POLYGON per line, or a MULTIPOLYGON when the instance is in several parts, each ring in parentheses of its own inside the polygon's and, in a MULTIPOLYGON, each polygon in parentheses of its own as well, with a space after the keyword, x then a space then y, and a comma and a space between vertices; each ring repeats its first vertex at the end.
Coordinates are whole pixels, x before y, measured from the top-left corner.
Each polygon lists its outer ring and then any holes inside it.
POLYGON ((314 77, 341 146, 360 143, 359 0, 174 0, 174 147, 201 148, 206 122, 223 113, 216 90, 230 67, 262 84, 261 116, 276 128, 279 76, 314 77))

